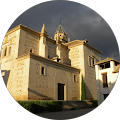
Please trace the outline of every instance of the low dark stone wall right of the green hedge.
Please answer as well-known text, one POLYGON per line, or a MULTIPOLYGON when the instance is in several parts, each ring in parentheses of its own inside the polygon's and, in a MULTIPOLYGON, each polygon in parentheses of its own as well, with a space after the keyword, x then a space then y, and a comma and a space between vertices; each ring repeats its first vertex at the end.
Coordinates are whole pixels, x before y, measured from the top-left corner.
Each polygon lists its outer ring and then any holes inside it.
POLYGON ((74 110, 97 107, 97 103, 94 100, 84 101, 62 101, 62 110, 74 110))

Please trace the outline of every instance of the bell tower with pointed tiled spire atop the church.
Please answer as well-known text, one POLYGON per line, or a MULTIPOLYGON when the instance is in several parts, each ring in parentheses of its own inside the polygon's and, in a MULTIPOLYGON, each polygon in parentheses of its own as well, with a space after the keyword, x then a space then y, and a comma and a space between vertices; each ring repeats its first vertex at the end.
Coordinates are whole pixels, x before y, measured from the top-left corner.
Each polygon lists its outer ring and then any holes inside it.
POLYGON ((67 43, 67 33, 65 32, 64 28, 62 27, 61 22, 54 34, 54 40, 58 40, 58 39, 60 39, 60 41, 62 43, 67 43), (57 38, 57 37, 59 37, 59 38, 57 38))

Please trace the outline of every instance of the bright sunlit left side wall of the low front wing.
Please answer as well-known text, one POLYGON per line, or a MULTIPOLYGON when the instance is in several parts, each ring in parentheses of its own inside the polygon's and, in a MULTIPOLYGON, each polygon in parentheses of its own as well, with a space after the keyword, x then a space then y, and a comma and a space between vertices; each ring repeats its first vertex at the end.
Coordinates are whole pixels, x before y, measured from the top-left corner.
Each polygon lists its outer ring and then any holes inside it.
POLYGON ((12 62, 7 88, 15 100, 28 100, 29 58, 18 59, 12 62))

